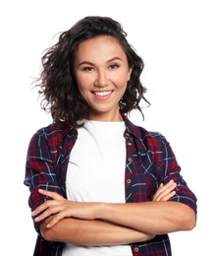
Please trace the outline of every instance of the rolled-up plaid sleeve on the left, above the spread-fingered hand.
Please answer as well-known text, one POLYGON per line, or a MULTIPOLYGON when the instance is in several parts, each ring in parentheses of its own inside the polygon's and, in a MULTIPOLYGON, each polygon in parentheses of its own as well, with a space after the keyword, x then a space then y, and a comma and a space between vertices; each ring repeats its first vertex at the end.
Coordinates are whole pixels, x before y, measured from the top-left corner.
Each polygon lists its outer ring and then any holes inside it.
MULTIPOLYGON (((48 198, 38 193, 38 189, 55 191, 63 195, 58 178, 57 149, 55 139, 47 139, 47 133, 39 130, 35 133, 28 146, 25 185, 28 186, 30 195, 28 205, 33 211, 48 198)), ((36 231, 39 232, 39 224, 34 223, 36 231)))

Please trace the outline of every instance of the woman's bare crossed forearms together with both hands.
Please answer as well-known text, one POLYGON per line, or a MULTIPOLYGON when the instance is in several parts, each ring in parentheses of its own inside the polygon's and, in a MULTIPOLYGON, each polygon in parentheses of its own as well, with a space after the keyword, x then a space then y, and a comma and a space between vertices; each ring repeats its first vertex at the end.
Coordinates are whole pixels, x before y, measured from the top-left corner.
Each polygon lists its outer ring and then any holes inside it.
POLYGON ((34 212, 47 240, 80 245, 117 245, 152 239, 156 234, 192 229, 195 214, 189 206, 168 201, 177 184, 161 185, 151 202, 85 203, 69 201, 55 192, 39 190, 53 200, 34 212))

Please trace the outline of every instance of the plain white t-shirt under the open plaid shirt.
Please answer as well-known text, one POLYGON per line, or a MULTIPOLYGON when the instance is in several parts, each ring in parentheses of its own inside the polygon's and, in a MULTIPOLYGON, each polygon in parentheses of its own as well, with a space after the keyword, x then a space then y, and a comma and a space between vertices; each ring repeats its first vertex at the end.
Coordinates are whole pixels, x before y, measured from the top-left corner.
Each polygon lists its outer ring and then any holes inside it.
MULTIPOLYGON (((71 152, 66 189, 69 200, 125 203, 125 122, 85 121, 71 152)), ((65 245, 63 256, 132 256, 130 245, 65 245)))

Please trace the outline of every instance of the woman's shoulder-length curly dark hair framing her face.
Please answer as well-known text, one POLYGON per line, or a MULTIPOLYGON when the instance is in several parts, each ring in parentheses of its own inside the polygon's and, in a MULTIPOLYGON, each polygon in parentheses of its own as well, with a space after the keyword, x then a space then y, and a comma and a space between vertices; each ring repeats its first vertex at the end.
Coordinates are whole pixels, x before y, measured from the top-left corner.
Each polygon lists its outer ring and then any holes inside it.
POLYGON ((50 111, 57 126, 77 128, 81 126, 79 121, 88 116, 89 107, 78 90, 73 66, 80 43, 99 35, 115 37, 127 55, 129 67, 133 68, 127 90, 119 102, 121 111, 128 114, 138 109, 144 118, 139 101, 144 99, 150 103, 143 96, 146 88, 140 83, 143 60, 129 44, 120 23, 109 17, 88 16, 70 30, 60 33, 58 42, 45 50, 41 58, 42 71, 35 86, 40 88, 42 109, 50 111))

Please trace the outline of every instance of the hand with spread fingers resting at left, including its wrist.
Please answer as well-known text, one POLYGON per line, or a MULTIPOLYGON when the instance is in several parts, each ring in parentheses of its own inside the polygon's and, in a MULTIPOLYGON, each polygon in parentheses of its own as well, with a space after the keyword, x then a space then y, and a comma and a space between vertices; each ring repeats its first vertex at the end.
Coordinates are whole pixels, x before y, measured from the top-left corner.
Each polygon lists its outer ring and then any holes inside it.
POLYGON ((44 196, 52 198, 53 200, 46 201, 31 213, 32 217, 38 216, 34 219, 36 223, 45 220, 51 215, 55 216, 51 219, 51 222, 46 225, 48 228, 57 224, 64 218, 73 217, 89 221, 96 219, 97 203, 69 201, 56 192, 42 189, 39 189, 38 192, 44 196))

